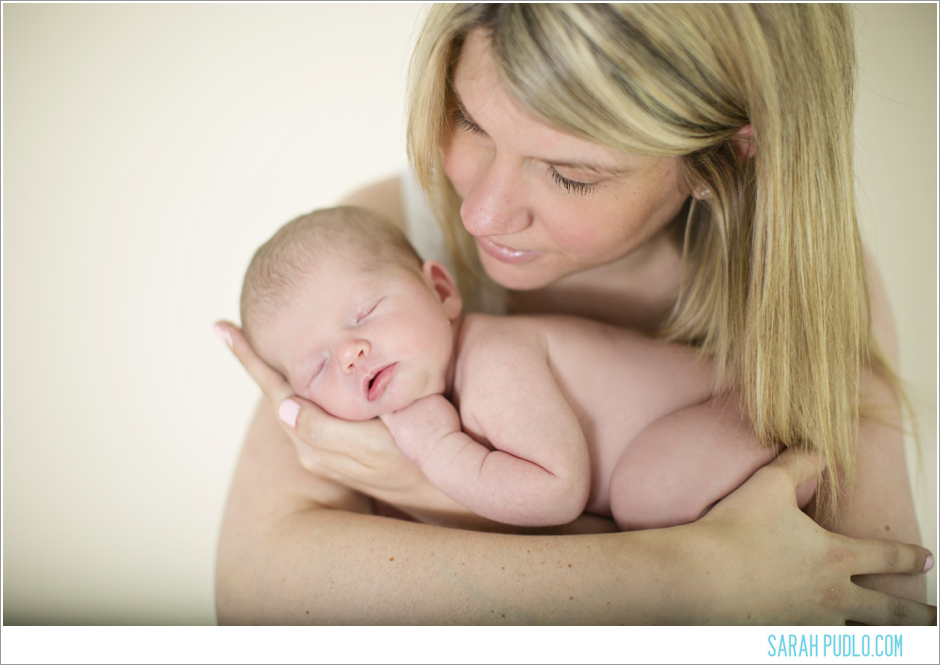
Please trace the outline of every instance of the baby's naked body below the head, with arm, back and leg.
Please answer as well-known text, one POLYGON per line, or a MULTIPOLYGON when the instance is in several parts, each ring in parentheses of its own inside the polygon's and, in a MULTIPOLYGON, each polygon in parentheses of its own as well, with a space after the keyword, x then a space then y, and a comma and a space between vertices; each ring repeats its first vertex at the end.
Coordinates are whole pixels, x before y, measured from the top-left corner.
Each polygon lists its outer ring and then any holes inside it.
POLYGON ((474 314, 455 353, 459 418, 440 396, 382 418, 429 480, 497 521, 688 522, 773 457, 684 347, 583 319, 474 314))

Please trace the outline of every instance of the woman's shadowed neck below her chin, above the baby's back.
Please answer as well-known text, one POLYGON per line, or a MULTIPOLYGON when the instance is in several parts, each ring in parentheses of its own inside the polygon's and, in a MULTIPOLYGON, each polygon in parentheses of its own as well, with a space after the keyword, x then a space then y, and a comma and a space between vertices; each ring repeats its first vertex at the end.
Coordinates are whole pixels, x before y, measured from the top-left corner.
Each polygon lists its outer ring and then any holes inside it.
POLYGON ((679 293, 681 258, 669 228, 619 261, 534 291, 508 294, 511 314, 567 314, 623 328, 658 329, 679 293))

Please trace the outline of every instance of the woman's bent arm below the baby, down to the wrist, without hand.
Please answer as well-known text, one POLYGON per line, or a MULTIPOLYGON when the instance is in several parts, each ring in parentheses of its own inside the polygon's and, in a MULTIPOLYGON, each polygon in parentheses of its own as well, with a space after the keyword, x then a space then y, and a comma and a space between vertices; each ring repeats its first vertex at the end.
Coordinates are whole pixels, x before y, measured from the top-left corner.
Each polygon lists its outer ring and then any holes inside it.
POLYGON ((684 623, 666 531, 520 536, 365 514, 368 499, 309 474, 263 403, 219 540, 220 623, 684 623), (629 571, 629 575, 626 574, 629 571))

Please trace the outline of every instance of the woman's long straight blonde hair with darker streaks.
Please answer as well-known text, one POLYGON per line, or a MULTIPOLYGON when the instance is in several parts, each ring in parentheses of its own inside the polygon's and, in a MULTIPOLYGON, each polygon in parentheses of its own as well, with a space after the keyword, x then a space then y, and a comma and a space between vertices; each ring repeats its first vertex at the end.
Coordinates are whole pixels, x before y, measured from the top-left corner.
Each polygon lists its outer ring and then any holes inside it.
POLYGON ((880 360, 853 191, 855 44, 838 4, 448 4, 412 61, 409 157, 466 301, 492 290, 441 139, 464 39, 482 29, 503 84, 579 138, 681 157, 678 301, 659 331, 715 359, 765 445, 818 451, 832 513, 853 480, 861 363, 880 360), (733 140, 753 128, 756 155, 733 140))

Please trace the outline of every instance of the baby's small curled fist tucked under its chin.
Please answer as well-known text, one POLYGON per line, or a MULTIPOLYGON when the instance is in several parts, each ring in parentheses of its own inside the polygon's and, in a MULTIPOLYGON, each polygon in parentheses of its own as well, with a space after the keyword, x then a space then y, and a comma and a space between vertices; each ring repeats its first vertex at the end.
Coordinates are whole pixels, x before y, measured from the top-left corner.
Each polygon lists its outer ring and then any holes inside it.
POLYGON ((421 464, 435 443, 460 431, 460 416, 443 395, 430 395, 404 409, 379 416, 405 457, 421 464))

